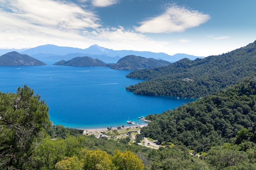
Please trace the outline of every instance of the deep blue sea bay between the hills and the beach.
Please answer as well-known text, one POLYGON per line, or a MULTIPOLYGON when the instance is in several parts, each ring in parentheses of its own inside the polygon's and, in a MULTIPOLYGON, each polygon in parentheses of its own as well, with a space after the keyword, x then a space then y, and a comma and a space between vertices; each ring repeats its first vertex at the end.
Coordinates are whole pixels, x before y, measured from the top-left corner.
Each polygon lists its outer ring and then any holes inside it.
POLYGON ((24 84, 49 107, 53 124, 69 128, 128 126, 127 120, 160 114, 195 99, 134 95, 125 86, 142 82, 125 76, 130 71, 106 67, 0 66, 0 91, 16 93, 24 84))

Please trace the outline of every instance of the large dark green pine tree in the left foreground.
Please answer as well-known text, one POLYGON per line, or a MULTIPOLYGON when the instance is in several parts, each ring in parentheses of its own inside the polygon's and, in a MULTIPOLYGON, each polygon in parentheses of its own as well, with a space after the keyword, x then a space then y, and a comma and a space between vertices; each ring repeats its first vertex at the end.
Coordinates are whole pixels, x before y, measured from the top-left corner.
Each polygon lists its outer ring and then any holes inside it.
POLYGON ((0 93, 0 169, 21 168, 50 126, 47 105, 28 86, 0 93))

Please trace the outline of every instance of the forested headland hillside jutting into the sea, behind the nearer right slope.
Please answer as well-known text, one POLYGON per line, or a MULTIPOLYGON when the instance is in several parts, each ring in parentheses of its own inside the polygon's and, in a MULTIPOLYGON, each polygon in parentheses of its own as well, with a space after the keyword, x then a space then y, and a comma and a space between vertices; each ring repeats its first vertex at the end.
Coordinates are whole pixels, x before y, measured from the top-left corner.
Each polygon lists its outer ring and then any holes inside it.
POLYGON ((133 71, 126 77, 148 79, 126 87, 135 94, 199 98, 256 72, 256 41, 222 55, 182 59, 169 66, 133 71))

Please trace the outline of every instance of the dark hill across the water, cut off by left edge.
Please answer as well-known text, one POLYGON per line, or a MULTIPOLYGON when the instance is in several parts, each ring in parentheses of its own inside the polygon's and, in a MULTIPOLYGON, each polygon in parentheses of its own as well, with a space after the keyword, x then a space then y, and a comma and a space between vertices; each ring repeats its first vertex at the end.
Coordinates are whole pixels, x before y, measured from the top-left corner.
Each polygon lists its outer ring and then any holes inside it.
POLYGON ((39 66, 46 65, 45 63, 36 60, 29 55, 20 54, 12 51, 0 56, 0 66, 39 66))

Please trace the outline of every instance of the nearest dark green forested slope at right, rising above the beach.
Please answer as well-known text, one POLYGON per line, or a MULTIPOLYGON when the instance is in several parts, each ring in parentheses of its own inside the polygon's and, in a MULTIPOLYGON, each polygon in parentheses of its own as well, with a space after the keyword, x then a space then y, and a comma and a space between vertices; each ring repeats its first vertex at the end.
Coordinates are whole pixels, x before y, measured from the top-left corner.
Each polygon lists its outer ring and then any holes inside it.
POLYGON ((141 129, 141 136, 159 143, 185 145, 195 152, 207 152, 226 142, 240 144, 244 139, 255 143, 255 113, 256 75, 220 93, 159 115, 148 115, 146 119, 151 122, 141 129))

